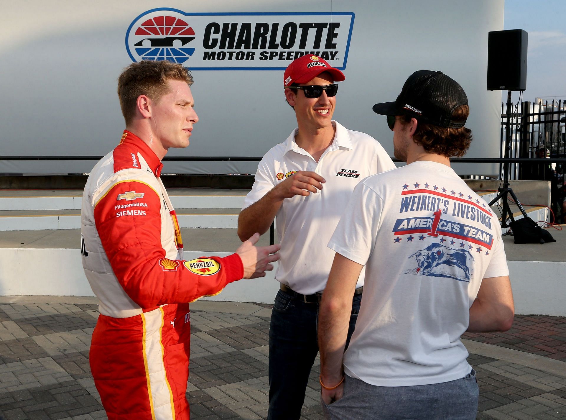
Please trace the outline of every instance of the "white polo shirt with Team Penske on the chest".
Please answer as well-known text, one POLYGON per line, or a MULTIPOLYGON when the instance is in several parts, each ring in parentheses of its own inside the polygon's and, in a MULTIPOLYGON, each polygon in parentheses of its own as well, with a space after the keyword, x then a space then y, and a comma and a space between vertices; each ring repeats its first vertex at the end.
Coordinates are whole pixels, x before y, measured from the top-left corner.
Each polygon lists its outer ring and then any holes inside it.
MULTIPOLYGON (((395 168, 381 144, 363 132, 346 130, 332 121, 336 134, 319 161, 295 143, 295 128, 285 142, 259 162, 252 190, 243 208, 299 170, 320 174, 323 189, 308 196, 286 198, 276 217, 281 259, 275 277, 297 293, 321 292, 326 286, 335 252, 326 245, 348 204, 354 187, 369 175, 395 168)), ((362 271, 358 285, 363 285, 362 271)))

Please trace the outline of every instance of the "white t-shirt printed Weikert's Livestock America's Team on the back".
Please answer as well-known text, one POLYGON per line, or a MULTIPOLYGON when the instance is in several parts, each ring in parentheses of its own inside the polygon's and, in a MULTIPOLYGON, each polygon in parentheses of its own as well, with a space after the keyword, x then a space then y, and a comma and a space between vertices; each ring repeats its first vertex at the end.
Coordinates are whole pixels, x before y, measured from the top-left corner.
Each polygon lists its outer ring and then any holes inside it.
POLYGON ((366 265, 346 374, 379 386, 470 372, 460 336, 483 278, 507 276, 498 218, 449 166, 417 161, 363 180, 328 244, 366 265))

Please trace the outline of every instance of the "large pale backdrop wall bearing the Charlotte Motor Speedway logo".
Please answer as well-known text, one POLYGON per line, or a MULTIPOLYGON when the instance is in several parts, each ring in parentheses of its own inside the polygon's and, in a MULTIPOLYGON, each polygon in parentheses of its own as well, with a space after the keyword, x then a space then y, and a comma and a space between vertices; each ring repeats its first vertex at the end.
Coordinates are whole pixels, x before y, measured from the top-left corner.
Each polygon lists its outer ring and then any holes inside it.
MULTIPOLYGON (((468 157, 499 156, 501 94, 486 91, 487 35, 503 0, 138 0, 2 2, 0 155, 103 156, 121 138, 117 78, 132 60, 192 68, 200 121, 171 156, 263 156, 296 126, 283 69, 316 53, 344 70, 335 118, 393 155, 376 102, 415 70, 440 70, 468 94, 468 157), (262 32, 263 31, 263 32, 262 32), (245 53, 245 54, 244 54, 245 53), (160 55, 163 54, 163 55, 160 55), (253 54, 253 59, 251 59, 253 54), (250 60, 240 58, 250 58, 250 60), (41 110, 41 112, 38 112, 41 110)), ((0 161, 0 173, 87 173, 93 161, 0 161)), ((255 173, 256 162, 166 162, 164 173, 255 173)), ((493 164, 457 164, 495 174, 493 164)))

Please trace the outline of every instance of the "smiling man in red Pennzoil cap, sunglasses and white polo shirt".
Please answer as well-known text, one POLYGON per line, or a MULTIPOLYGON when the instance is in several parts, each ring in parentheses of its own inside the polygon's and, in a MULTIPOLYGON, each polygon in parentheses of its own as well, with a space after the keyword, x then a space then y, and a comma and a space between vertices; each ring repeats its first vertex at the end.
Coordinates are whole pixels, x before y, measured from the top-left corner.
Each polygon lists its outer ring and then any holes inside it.
MULTIPOLYGON (((269 329, 268 419, 298 419, 311 367, 318 353, 316 322, 333 252, 326 244, 355 185, 368 175, 395 168, 371 136, 332 121, 344 74, 307 54, 285 70, 285 98, 298 128, 261 160, 255 183, 238 218, 242 241, 264 233, 277 215, 281 261, 269 329), (324 188, 323 188, 324 184, 324 188), (312 193, 312 194, 311 194, 312 193)), ((349 335, 363 288, 353 299, 349 335)))

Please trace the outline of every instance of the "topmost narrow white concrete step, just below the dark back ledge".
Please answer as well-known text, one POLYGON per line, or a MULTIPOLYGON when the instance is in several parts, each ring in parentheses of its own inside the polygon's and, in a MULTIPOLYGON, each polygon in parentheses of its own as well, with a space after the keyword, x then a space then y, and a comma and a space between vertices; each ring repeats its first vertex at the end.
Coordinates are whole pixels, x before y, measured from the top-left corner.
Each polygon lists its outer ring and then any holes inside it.
MULTIPOLYGON (((171 188, 175 208, 242 208, 249 190, 171 188)), ((0 190, 0 210, 80 209, 82 190, 0 190)))

